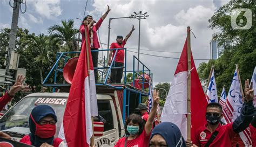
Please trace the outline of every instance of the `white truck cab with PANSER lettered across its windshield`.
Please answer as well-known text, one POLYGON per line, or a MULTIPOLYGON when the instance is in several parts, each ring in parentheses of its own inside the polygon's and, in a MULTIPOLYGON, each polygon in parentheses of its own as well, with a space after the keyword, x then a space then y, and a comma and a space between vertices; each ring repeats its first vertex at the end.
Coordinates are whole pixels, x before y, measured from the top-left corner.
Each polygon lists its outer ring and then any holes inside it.
MULTIPOLYGON (((33 93, 25 96, 15 104, 0 120, 0 130, 19 141, 30 133, 29 115, 39 104, 51 106, 58 117, 55 137, 58 136, 60 125, 69 93, 33 93)), ((116 107, 113 99, 118 101, 117 92, 112 94, 97 94, 98 117, 104 123, 103 136, 95 137, 95 146, 114 146, 120 137, 125 135, 120 107, 116 107), (117 115, 118 114, 118 115, 117 115), (118 118, 119 116, 119 118, 118 118)))

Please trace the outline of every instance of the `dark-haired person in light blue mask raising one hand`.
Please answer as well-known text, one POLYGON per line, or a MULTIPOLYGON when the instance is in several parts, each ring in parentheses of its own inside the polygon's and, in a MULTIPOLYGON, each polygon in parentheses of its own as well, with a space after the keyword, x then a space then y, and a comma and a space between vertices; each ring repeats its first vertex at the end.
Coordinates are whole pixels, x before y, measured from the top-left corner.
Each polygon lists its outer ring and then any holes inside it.
POLYGON ((154 117, 157 113, 157 106, 159 103, 159 96, 157 90, 153 92, 153 106, 145 125, 142 117, 137 114, 131 114, 126 122, 126 131, 129 132, 130 136, 123 137, 118 140, 114 147, 147 147, 149 146, 149 139, 152 130, 154 117))

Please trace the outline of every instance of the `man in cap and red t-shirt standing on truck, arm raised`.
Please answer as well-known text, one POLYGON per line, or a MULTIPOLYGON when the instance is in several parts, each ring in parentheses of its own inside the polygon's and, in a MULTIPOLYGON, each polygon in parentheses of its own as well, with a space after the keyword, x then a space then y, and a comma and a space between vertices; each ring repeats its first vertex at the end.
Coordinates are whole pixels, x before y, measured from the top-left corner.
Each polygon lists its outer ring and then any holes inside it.
MULTIPOLYGON (((114 48, 124 48, 124 45, 126 44, 126 41, 131 36, 132 32, 134 31, 134 25, 132 25, 132 30, 127 34, 127 36, 123 40, 123 36, 117 36, 117 42, 112 43, 110 45, 110 52, 109 52, 109 66, 111 65, 111 61, 114 58, 114 54, 116 53, 116 50, 113 50, 114 48), (112 58, 112 59, 111 59, 112 58)), ((112 67, 123 67, 124 66, 124 50, 118 50, 116 54, 116 58, 114 58, 113 66, 112 67)), ((110 82, 111 83, 121 83, 121 79, 123 77, 123 68, 116 68, 111 69, 111 75, 110 75, 110 82)))

